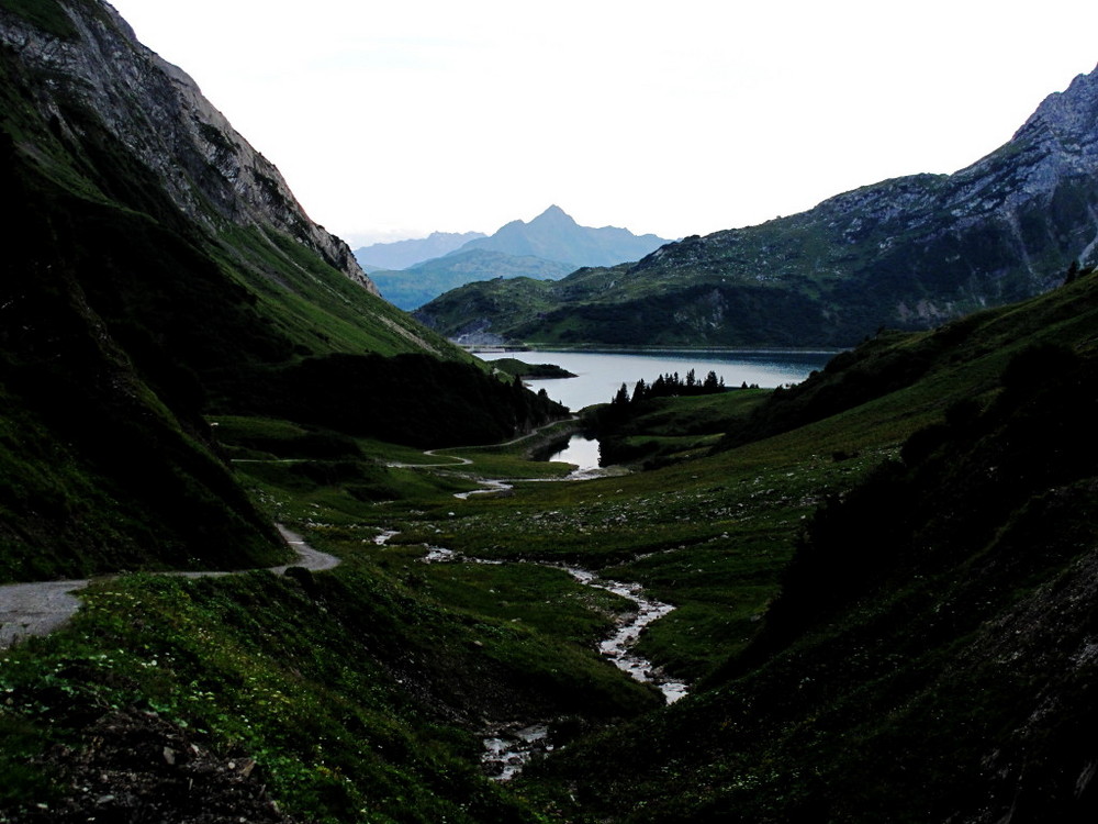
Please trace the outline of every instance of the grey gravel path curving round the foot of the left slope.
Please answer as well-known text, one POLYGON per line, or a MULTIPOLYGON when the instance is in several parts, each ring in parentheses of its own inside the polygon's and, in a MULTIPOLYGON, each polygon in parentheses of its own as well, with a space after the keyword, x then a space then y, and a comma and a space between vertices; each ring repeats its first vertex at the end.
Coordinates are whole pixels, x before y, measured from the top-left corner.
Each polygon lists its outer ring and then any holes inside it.
MULTIPOLYGON (((314 572, 333 569, 339 564, 334 555, 322 553, 295 532, 281 524, 278 530, 285 542, 298 553, 295 564, 269 567, 274 575, 282 575, 291 566, 305 567, 314 572)), ((242 570, 250 571, 250 570, 242 570)), ((206 578, 236 572, 166 572, 184 578, 206 578)), ((9 583, 0 587, 0 649, 7 649, 16 641, 32 635, 48 635, 68 621, 80 609, 80 599, 75 594, 88 586, 89 579, 71 581, 41 581, 35 583, 9 583)))

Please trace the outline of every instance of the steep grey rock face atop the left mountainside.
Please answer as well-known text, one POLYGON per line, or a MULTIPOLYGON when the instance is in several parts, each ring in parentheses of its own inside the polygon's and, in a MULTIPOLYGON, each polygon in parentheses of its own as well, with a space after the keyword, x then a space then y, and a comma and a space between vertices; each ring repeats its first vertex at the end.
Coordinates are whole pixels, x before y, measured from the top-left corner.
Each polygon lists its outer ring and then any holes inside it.
POLYGON ((58 133, 79 143, 87 125, 72 104, 94 112, 191 218, 213 230, 227 221, 285 233, 377 294, 350 248, 309 219, 274 165, 186 73, 138 43, 111 5, 72 0, 56 8, 69 22, 53 30, 0 9, 0 44, 48 78, 30 102, 58 133))

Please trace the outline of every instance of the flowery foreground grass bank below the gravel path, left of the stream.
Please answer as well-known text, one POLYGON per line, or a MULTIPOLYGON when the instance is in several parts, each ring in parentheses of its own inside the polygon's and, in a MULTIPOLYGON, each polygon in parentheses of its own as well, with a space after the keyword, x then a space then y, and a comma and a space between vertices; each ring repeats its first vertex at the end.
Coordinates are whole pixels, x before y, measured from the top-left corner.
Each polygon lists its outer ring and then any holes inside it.
POLYGON ((485 579, 470 570, 417 564, 419 577, 354 556, 298 579, 99 586, 67 631, 2 659, 2 810, 65 810, 66 759, 47 744, 93 750, 90 723, 137 713, 254 759, 279 803, 310 820, 536 821, 481 775, 475 730, 529 716, 605 723, 658 699, 580 643, 613 604, 593 610, 563 574, 500 571, 501 594, 516 606, 552 598, 558 620, 514 621, 483 601, 485 579))

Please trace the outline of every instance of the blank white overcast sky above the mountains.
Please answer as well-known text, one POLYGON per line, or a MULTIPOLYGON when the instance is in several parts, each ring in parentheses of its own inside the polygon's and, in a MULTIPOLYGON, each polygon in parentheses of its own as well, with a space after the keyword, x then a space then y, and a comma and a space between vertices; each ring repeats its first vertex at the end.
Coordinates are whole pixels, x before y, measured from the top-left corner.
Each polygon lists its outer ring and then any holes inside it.
POLYGON ((352 246, 707 234, 951 172, 1098 63, 1094 0, 112 0, 352 246))

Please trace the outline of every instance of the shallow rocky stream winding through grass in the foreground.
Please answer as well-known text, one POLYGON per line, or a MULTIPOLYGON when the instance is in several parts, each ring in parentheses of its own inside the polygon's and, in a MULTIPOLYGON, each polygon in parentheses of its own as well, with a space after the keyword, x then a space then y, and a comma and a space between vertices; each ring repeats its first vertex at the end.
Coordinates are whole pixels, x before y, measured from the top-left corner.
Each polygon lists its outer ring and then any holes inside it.
MULTIPOLYGON (((388 537, 385 538, 388 539, 388 537)), ((383 542, 379 542, 383 543, 383 542)), ((504 564, 502 560, 485 560, 470 558, 442 547, 429 547, 422 558, 425 564, 504 564)), ((666 676, 660 668, 646 658, 631 652, 646 626, 657 621, 675 608, 662 603, 645 594, 639 583, 603 580, 594 572, 579 567, 569 567, 548 561, 506 561, 518 564, 538 564, 551 569, 560 569, 571 575, 576 581, 587 587, 604 589, 626 598, 636 604, 636 611, 626 613, 617 623, 613 635, 598 645, 598 652, 618 669, 628 673, 641 683, 651 683, 663 693, 668 703, 677 701, 686 694, 684 681, 666 676)), ((529 721, 501 724, 489 731, 484 737, 484 753, 481 762, 490 777, 506 781, 519 772, 526 762, 539 753, 552 751, 553 744, 549 738, 549 727, 545 723, 529 721)))

